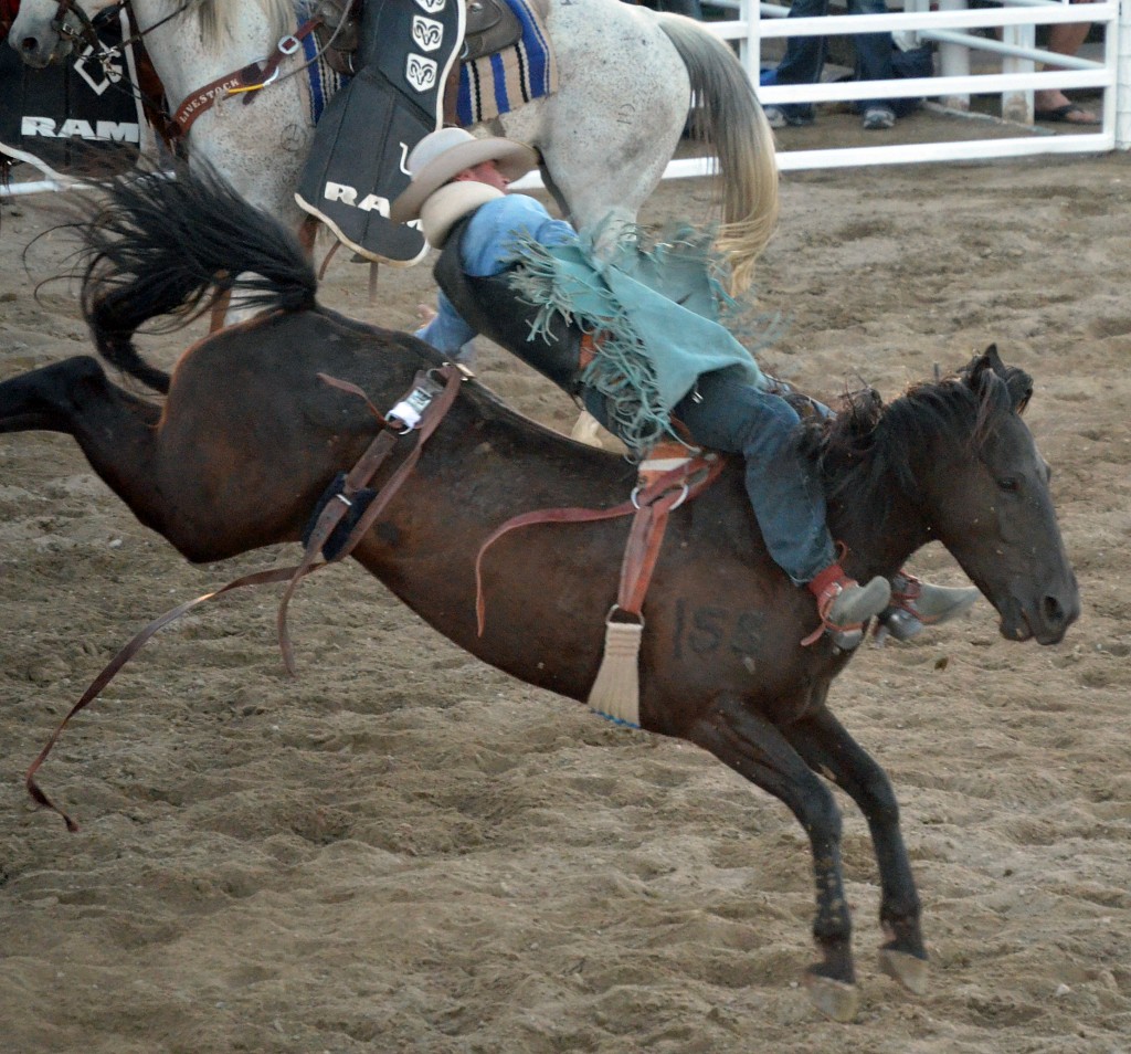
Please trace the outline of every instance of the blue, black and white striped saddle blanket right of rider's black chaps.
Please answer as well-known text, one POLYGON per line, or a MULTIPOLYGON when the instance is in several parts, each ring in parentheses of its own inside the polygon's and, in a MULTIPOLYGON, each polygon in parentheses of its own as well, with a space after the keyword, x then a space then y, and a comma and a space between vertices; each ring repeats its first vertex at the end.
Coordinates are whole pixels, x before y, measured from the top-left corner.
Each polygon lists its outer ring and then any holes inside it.
POLYGON ((507 0, 523 26, 517 44, 459 68, 456 115, 467 128, 558 90, 558 64, 545 26, 526 0, 507 0))

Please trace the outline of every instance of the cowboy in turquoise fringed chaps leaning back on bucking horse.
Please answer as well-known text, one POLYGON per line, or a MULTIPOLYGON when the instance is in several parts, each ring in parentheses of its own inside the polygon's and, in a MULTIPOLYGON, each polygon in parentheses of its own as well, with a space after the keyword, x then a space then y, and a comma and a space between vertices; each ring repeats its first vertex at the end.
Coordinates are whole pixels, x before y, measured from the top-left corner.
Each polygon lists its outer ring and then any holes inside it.
POLYGON ((874 616, 898 611, 905 617, 892 632, 906 639, 924 623, 967 611, 977 589, 927 585, 905 572, 861 585, 845 573, 826 525, 821 484, 795 443, 800 418, 791 404, 710 311, 697 313, 633 282, 599 261, 539 201, 507 195, 508 184, 536 163, 523 144, 477 139, 458 128, 425 136, 409 154, 411 182, 392 202, 391 218, 420 219, 429 243, 441 250, 439 310, 417 336, 456 355, 484 334, 578 396, 637 453, 671 434, 673 417, 692 442, 742 453, 767 548, 795 585, 813 594, 835 647, 856 647, 863 623, 874 616), (576 303, 545 311, 532 304, 528 287, 516 291, 516 279, 555 266, 567 279, 580 270, 576 303), (585 291, 595 286, 615 303, 612 316, 629 319, 624 331, 607 316, 599 327, 588 316, 588 336, 578 325, 587 318, 585 291), (585 366, 582 349, 593 356, 585 366))

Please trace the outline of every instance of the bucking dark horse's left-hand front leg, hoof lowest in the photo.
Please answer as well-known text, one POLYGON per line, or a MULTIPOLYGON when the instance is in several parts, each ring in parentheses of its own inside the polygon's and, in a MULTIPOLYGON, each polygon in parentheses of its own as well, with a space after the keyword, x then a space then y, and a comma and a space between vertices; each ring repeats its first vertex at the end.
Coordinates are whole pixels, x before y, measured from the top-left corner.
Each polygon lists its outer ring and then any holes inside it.
POLYGON ((822 1013, 851 1021, 858 995, 840 866, 840 812, 832 792, 782 732, 736 696, 716 699, 682 735, 785 802, 809 833, 817 879, 813 938, 821 961, 806 970, 805 980, 810 999, 822 1013))

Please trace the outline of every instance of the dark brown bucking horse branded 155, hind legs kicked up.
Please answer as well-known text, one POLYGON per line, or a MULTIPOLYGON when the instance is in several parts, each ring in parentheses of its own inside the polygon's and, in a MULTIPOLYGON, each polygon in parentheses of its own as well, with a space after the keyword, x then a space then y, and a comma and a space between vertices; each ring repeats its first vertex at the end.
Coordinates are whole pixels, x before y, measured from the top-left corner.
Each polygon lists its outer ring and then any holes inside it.
MULTIPOLYGON (((118 183, 85 225, 84 308, 111 362, 167 386, 164 406, 111 383, 90 357, 0 385, 0 431, 75 437, 95 472, 146 525, 193 561, 296 541, 336 473, 379 425, 325 372, 388 408, 438 356, 411 336, 320 308, 303 253, 224 187, 118 183), (199 303, 209 285, 254 271, 270 313, 196 345, 171 382, 141 369, 130 339, 143 321, 199 303)), ((1048 469, 1020 412, 1029 378, 994 349, 955 377, 888 406, 854 400, 808 440, 822 465, 834 536, 857 578, 892 574, 939 541, 1001 615, 1012 640, 1060 641, 1079 613, 1048 469)), ((398 441, 407 448, 411 439, 398 441)), ((466 383, 407 486, 354 556, 439 632, 530 684, 584 700, 616 595, 628 521, 543 525, 486 555, 486 625, 476 631, 474 564, 511 516, 624 500, 632 469, 580 447, 466 383)), ((673 512, 645 606, 645 728, 710 751, 785 802, 809 833, 817 878, 819 961, 808 980, 826 1013, 856 1008, 840 815, 821 777, 846 791, 871 828, 882 882, 883 969, 926 987, 920 901, 891 786, 827 707, 849 656, 800 641, 812 597, 768 558, 740 466, 673 512)))

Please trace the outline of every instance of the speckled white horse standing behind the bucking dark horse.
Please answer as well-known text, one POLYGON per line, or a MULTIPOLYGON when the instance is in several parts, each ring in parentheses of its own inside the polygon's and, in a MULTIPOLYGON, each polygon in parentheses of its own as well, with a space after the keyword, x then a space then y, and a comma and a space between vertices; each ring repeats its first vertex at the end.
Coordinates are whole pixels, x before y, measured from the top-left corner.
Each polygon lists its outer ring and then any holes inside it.
MULTIPOLYGON (((119 0, 132 9, 171 112, 213 80, 264 59, 297 25, 294 0, 119 0)), ((559 71, 554 94, 492 122, 536 147, 562 211, 582 227, 631 223, 685 128, 692 93, 723 182, 717 247, 736 288, 777 217, 772 132, 729 46, 698 23, 621 0, 544 0, 559 71)), ((87 15, 110 0, 23 0, 9 44, 32 67, 58 61, 87 15)), ((211 163, 252 204, 299 230, 294 188, 313 135, 302 53, 244 105, 221 101, 189 131, 190 158, 211 163)), ((308 232, 309 236, 309 232, 308 232)), ((308 241, 310 244, 310 241, 308 241)))

